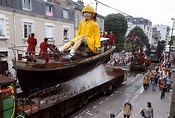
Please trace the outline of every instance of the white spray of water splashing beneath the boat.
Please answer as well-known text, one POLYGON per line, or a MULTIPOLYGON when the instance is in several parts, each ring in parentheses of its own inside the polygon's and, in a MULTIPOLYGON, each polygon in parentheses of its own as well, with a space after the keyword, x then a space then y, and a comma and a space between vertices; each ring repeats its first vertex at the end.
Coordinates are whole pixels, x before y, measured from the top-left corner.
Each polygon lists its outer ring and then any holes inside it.
POLYGON ((81 93, 106 82, 108 79, 104 65, 99 65, 92 71, 63 83, 62 92, 81 93))

